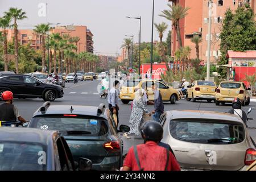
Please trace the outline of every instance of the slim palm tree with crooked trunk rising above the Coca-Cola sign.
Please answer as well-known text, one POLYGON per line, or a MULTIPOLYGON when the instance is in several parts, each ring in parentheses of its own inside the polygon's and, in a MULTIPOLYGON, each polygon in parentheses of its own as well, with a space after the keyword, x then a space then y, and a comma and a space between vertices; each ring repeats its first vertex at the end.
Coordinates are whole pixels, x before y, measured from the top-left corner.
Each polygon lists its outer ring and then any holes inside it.
POLYGON ((159 33, 159 39, 160 39, 159 47, 160 47, 161 59, 162 59, 162 61, 164 61, 166 63, 167 71, 170 71, 170 68, 169 68, 169 65, 168 65, 168 61, 166 59, 166 48, 165 48, 165 46, 163 44, 163 33, 164 33, 164 31, 167 30, 168 25, 166 23, 164 23, 164 22, 159 23, 159 24, 155 23, 155 27, 156 27, 156 30, 159 33))

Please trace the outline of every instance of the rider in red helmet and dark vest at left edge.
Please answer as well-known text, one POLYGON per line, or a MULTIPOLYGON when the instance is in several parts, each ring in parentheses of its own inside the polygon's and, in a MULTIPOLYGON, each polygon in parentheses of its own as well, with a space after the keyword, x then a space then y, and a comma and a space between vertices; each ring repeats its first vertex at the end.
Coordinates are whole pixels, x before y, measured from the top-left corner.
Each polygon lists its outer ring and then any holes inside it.
POLYGON ((26 123, 27 121, 21 117, 17 107, 13 105, 13 93, 5 91, 1 97, 5 103, 0 105, 0 121, 16 123, 16 119, 18 118, 20 122, 26 123))

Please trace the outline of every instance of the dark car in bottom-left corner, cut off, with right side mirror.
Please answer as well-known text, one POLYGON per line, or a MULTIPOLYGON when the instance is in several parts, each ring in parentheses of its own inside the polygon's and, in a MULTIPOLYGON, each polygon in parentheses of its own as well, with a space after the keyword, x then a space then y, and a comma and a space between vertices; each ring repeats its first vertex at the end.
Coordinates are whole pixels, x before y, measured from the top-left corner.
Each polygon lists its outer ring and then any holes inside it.
POLYGON ((85 171, 91 166, 85 158, 74 162, 58 131, 0 127, 0 171, 85 171))

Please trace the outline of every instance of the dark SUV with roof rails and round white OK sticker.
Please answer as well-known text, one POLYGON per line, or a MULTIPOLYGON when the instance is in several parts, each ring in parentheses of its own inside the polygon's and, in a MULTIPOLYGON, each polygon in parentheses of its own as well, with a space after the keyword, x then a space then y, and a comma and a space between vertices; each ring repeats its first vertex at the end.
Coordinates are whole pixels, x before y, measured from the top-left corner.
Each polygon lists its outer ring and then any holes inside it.
POLYGON ((87 158, 92 169, 115 170, 123 163, 123 143, 119 132, 129 126, 115 125, 109 109, 77 105, 51 105, 46 102, 33 115, 27 127, 59 130, 71 149, 73 158, 87 158))

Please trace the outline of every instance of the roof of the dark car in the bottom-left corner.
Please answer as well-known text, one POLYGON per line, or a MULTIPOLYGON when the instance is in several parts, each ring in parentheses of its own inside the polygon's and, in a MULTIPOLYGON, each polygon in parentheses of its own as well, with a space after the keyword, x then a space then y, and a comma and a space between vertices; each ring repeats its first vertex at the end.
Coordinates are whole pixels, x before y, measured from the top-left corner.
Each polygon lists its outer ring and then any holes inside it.
POLYGON ((39 130, 23 127, 0 127, 0 141, 35 142, 48 145, 52 136, 59 135, 55 130, 39 130))

